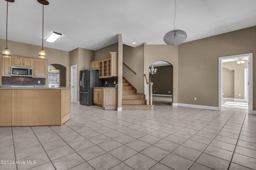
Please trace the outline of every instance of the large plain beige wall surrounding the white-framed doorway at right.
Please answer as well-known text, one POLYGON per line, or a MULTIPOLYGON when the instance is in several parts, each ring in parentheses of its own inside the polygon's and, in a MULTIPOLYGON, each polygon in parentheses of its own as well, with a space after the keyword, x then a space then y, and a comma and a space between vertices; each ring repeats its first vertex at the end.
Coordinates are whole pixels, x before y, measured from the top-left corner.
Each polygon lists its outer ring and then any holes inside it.
MULTIPOLYGON (((178 102, 218 107, 218 57, 253 53, 255 73, 256 26, 183 43, 178 51, 178 102)), ((253 110, 256 110, 256 74, 253 77, 253 110)))

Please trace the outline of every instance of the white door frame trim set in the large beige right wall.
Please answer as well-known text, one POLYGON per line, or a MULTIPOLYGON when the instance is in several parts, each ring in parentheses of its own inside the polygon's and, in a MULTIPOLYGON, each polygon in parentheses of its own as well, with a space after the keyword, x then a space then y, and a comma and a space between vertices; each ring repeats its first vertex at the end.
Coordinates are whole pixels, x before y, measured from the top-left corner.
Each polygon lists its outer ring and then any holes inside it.
POLYGON ((252 53, 240 54, 240 55, 230 55, 225 57, 219 57, 219 110, 222 110, 222 60, 232 59, 232 58, 242 58, 248 57, 248 74, 249 74, 249 94, 248 94, 248 112, 253 114, 253 75, 252 75, 252 53))

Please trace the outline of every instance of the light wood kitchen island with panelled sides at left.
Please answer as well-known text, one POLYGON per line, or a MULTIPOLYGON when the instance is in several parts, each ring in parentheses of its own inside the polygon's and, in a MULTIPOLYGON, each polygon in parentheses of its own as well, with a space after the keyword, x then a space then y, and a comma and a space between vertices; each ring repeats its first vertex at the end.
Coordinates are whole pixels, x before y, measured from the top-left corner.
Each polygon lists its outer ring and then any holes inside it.
POLYGON ((70 119, 70 87, 1 87, 0 127, 62 125, 70 119))

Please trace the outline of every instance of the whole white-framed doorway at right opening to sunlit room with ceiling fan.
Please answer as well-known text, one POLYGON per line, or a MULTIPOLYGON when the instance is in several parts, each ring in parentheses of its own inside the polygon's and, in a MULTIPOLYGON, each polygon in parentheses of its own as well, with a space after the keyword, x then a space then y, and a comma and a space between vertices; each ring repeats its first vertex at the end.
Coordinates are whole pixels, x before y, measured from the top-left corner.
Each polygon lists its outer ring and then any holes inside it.
POLYGON ((252 113, 250 103, 252 103, 252 53, 220 57, 219 109, 252 113))

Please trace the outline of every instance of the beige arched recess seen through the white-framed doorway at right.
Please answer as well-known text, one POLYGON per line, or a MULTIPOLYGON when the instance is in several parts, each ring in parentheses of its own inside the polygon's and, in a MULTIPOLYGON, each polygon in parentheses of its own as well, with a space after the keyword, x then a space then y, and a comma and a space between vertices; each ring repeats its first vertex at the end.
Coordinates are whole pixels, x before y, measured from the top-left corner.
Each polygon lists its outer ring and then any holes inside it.
POLYGON ((234 70, 222 67, 222 97, 234 98, 234 70))

